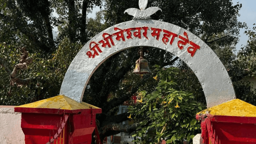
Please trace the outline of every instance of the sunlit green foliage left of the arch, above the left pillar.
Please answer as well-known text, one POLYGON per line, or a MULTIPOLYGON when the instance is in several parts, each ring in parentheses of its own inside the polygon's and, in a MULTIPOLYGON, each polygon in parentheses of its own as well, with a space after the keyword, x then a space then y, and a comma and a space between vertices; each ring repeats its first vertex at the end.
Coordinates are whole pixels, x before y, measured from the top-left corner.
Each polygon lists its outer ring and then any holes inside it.
MULTIPOLYGON (((66 38, 51 55, 30 53, 33 62, 27 69, 19 71, 16 76, 22 79, 33 77, 34 81, 27 86, 15 85, 11 95, 7 95, 10 77, 4 68, 1 68, 0 82, 3 85, 0 85, 0 105, 22 105, 57 96, 68 66, 81 48, 81 44, 69 43, 66 38)), ((19 63, 21 55, 19 47, 2 43, 0 49, 0 58, 6 61, 10 70, 13 70, 19 63)))

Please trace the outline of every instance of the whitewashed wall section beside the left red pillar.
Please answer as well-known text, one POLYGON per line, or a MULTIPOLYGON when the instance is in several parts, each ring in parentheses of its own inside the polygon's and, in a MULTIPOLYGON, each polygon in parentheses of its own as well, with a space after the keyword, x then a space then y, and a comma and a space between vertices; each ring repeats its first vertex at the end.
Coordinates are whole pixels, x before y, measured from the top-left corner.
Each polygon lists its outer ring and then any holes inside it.
POLYGON ((25 144, 25 135, 20 127, 21 113, 15 106, 0 106, 0 143, 25 144))

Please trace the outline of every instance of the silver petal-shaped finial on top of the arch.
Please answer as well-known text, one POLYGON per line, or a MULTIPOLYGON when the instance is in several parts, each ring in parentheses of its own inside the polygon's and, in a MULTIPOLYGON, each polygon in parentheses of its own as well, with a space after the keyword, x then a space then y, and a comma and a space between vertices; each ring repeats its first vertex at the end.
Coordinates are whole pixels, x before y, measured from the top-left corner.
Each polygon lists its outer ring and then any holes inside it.
POLYGON ((129 8, 124 11, 124 13, 127 13, 129 15, 133 16, 133 19, 150 19, 150 16, 156 13, 158 10, 162 12, 162 9, 159 7, 147 7, 147 1, 148 0, 139 0, 139 7, 137 8, 129 8))

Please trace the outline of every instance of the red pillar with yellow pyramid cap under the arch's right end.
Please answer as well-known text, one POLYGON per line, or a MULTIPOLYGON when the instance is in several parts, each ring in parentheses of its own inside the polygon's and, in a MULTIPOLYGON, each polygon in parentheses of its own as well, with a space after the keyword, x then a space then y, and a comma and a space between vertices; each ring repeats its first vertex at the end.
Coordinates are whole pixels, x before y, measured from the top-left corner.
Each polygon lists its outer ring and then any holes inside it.
POLYGON ((234 99, 197 113, 203 143, 256 144, 255 111, 255 106, 234 99))

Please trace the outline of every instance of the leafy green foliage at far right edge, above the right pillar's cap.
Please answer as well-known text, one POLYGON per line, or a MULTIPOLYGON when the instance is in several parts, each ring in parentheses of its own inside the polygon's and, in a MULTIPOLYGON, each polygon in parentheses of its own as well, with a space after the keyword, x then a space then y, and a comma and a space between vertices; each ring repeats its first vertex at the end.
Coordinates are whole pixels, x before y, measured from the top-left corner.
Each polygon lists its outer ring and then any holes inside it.
POLYGON ((256 90, 249 81, 250 78, 256 78, 255 30, 255 27, 253 27, 253 30, 245 31, 249 40, 247 45, 243 46, 242 50, 237 53, 237 59, 232 61, 233 67, 230 68, 229 75, 232 78, 237 97, 256 106, 256 90))

